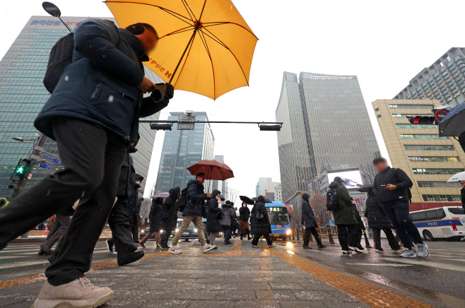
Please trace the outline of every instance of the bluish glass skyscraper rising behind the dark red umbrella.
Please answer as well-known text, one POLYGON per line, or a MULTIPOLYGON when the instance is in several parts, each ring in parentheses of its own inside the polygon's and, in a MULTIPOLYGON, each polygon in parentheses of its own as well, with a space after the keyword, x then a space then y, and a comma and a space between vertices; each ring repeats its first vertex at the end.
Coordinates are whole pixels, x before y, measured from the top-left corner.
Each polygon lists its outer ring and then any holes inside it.
MULTIPOLYGON (((177 120, 183 112, 170 112, 168 120, 177 120)), ((196 120, 208 121, 206 112, 192 112, 196 120)), ((165 132, 163 148, 158 167, 158 177, 155 192, 167 192, 172 187, 183 189, 189 179, 193 179, 187 167, 200 160, 213 160, 215 138, 210 124, 197 123, 192 131, 177 130, 173 124, 172 131, 165 132)), ((205 187, 211 188, 211 182, 206 181, 205 187)))

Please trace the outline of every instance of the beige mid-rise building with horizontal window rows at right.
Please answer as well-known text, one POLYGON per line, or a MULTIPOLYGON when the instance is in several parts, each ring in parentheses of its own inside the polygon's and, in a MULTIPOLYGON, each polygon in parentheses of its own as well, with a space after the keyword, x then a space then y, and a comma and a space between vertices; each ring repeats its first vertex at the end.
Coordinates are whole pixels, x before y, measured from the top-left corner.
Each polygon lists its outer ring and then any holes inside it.
POLYGON ((452 137, 438 136, 437 125, 411 124, 397 114, 431 112, 439 100, 375 100, 372 102, 392 167, 411 178, 410 211, 461 206, 459 182, 447 182, 465 170, 465 155, 452 137))

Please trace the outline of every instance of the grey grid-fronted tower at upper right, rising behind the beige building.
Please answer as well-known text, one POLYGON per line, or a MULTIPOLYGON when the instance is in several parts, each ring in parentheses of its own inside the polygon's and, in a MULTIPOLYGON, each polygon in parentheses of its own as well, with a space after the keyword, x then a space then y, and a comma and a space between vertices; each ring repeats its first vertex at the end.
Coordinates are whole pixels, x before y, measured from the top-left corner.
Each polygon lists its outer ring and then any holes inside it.
POLYGON ((421 70, 394 100, 440 100, 455 107, 465 101, 465 48, 452 47, 421 70))

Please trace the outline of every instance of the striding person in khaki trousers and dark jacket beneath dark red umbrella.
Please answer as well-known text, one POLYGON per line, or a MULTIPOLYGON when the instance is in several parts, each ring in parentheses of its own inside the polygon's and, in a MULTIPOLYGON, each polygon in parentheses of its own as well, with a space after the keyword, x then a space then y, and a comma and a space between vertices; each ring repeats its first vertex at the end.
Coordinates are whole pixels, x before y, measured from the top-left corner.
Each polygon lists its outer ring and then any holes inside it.
POLYGON ((196 174, 195 179, 191 179, 187 182, 187 201, 184 206, 182 215, 182 224, 177 228, 175 236, 172 238, 170 246, 170 252, 172 254, 181 254, 182 252, 177 249, 177 242, 182 236, 182 233, 186 232, 190 223, 194 223, 197 234, 199 235, 199 242, 204 252, 215 249, 215 245, 207 244, 204 233, 204 223, 202 223, 202 212, 204 211, 206 199, 211 198, 210 193, 204 193, 204 182, 205 174, 199 172, 196 174))

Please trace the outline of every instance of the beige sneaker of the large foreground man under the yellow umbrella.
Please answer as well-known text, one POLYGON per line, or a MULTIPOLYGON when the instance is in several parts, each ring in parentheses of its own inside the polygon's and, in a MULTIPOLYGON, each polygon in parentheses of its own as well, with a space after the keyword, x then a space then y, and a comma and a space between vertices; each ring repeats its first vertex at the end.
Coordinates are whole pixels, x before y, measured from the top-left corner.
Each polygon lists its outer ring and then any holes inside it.
POLYGON ((31 308, 92 308, 105 304, 112 298, 113 291, 110 288, 93 285, 86 277, 57 286, 46 281, 31 308))

